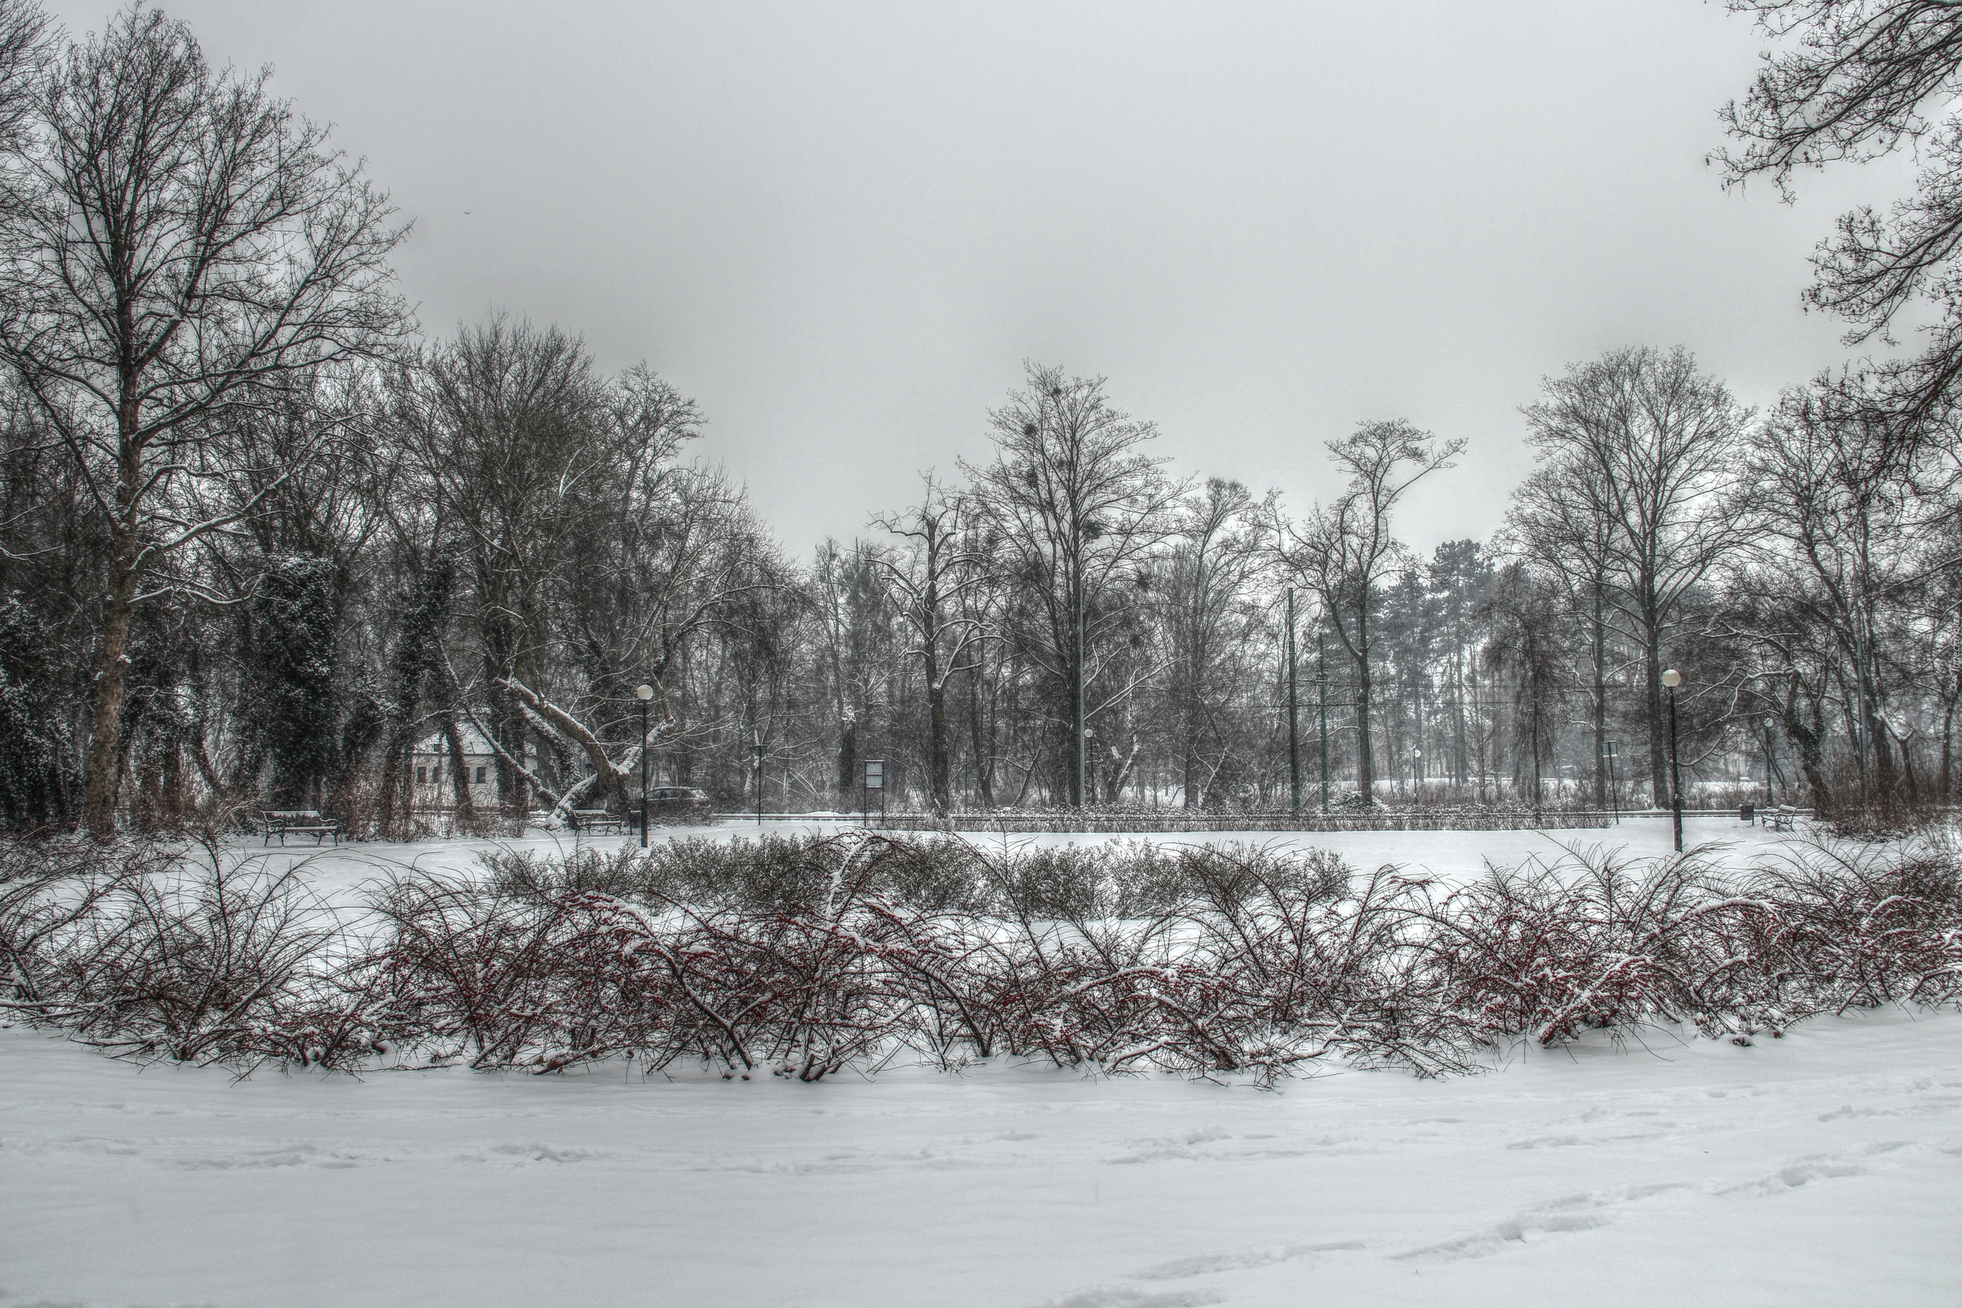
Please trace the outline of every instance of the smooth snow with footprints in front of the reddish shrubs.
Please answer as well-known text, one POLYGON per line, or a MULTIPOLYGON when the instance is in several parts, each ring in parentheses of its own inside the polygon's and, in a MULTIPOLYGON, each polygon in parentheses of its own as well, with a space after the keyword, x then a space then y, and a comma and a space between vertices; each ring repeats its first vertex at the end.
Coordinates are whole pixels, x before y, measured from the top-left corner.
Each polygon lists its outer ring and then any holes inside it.
POLYGON ((1262 1094, 233 1082, 8 1030, 0 1306, 1962 1302, 1962 1016, 1650 1047, 1262 1094))

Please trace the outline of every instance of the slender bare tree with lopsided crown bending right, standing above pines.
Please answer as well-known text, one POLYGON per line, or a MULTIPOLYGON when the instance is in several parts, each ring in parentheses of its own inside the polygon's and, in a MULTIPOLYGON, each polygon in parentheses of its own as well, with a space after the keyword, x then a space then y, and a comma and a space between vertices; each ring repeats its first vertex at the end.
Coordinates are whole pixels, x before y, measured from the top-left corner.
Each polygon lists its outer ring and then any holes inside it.
POLYGON ((1452 467, 1464 439, 1438 439, 1401 418, 1366 422, 1328 455, 1350 484, 1328 506, 1317 506, 1299 526, 1275 520, 1275 549, 1283 569, 1317 594, 1322 616, 1356 665, 1356 790, 1375 802, 1369 706, 1375 657, 1375 606, 1383 580, 1403 569, 1403 545, 1391 535, 1397 502, 1419 480, 1452 467))

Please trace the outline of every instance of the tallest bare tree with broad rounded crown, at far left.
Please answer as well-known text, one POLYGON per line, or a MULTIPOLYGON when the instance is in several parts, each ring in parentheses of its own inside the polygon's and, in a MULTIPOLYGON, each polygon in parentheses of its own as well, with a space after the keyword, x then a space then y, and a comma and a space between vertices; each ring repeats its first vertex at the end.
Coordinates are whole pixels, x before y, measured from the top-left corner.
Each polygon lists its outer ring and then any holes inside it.
POLYGON ((96 835, 116 826, 131 616, 182 590, 173 557, 263 502, 200 518, 186 490, 232 471, 237 408, 404 324, 387 196, 267 76, 212 73, 188 27, 124 10, 53 71, 0 253, 0 361, 114 537, 82 782, 96 835))

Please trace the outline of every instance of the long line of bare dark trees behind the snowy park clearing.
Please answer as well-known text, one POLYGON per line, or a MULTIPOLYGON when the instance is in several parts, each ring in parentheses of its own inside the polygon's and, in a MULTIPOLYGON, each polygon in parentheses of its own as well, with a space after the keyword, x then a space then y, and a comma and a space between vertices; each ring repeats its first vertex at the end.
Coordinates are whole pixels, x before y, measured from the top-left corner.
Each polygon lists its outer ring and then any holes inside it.
MULTIPOLYGON (((1752 106, 1740 135, 1791 118, 1752 106)), ((1672 733, 1693 794, 1952 794, 1958 469, 1925 361, 1764 412, 1683 349, 1574 363, 1523 406, 1503 528, 1428 557, 1397 516, 1460 439, 1362 422, 1326 441, 1340 494, 1291 508, 1030 363, 983 459, 802 555, 651 369, 512 318, 424 337, 387 194, 155 10, 61 41, 0 0, 0 182, 10 826, 494 830, 628 806, 644 767, 850 810, 867 759, 936 812, 1313 808, 1324 779, 1650 804, 1672 733), (418 780, 432 741, 494 786, 418 780)))

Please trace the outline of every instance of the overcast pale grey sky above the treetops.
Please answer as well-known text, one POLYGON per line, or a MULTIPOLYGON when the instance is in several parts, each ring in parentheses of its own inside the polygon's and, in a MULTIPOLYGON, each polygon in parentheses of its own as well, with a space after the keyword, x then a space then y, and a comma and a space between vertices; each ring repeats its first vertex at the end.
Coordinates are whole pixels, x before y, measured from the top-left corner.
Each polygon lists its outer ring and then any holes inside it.
POLYGON ((1679 343, 1754 404, 1840 363, 1805 257, 1905 176, 1721 192, 1760 39, 1697 0, 167 8, 367 159, 426 331, 645 359, 797 557, 983 459, 1022 359, 1297 510, 1358 420, 1464 435, 1401 535, 1487 537, 1568 361, 1679 343))

